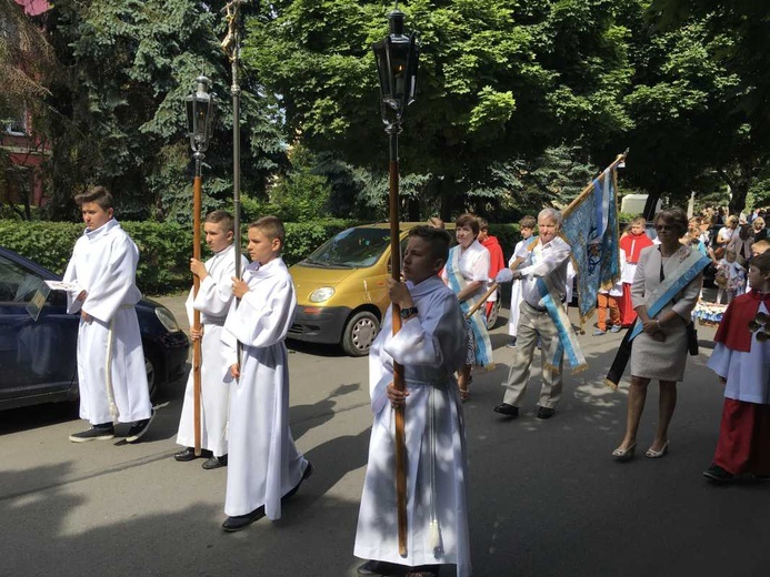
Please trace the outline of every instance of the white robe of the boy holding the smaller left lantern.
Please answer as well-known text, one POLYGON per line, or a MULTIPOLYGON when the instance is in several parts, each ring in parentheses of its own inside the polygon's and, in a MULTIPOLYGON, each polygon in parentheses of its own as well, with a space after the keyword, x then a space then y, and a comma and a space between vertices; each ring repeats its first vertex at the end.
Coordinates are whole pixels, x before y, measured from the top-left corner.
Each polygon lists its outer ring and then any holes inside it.
MULTIPOLYGON (((249 262, 241 256, 241 271, 249 262)), ((206 276, 198 294, 192 291, 184 303, 192 326, 193 308, 200 311, 200 323, 203 327, 201 340, 201 448, 216 456, 227 455, 228 412, 230 408, 230 385, 222 376, 222 325, 232 302, 232 277, 236 275, 236 247, 228 246, 206 261, 206 276)), ((187 381, 184 404, 179 419, 177 443, 186 447, 196 444, 194 429, 194 383, 193 375, 187 381)))

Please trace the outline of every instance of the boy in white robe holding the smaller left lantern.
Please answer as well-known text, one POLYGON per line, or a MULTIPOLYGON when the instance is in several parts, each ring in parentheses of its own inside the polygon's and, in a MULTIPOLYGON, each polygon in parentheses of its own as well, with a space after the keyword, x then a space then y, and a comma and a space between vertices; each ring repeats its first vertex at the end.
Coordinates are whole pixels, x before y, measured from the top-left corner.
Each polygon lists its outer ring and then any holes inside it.
MULTIPOLYGON (((228 463, 228 412, 230 408, 230 388, 224 383, 222 363, 222 326, 232 302, 232 276, 236 274, 236 247, 233 245, 234 221, 226 211, 213 211, 203 223, 206 243, 213 256, 202 263, 190 259, 190 271, 200 279, 198 295, 192 291, 186 306, 190 325, 193 308, 200 311, 200 332, 190 331, 193 340, 201 340, 201 456, 209 459, 203 463, 204 469, 223 467, 228 463)), ((248 261, 241 256, 242 271, 248 261)), ((194 432, 194 383, 193 375, 187 382, 184 404, 179 421, 177 443, 184 446, 174 454, 177 460, 192 460, 196 452, 194 432)))

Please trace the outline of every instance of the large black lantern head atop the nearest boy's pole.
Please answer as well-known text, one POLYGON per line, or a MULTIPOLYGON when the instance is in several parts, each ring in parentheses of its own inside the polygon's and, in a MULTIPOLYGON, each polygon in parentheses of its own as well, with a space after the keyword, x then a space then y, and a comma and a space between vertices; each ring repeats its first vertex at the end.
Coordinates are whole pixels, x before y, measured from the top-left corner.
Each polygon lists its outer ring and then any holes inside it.
POLYGON ((390 33, 374 42, 377 71, 380 78, 382 122, 399 124, 407 107, 417 94, 417 62, 419 45, 417 32, 406 36, 403 12, 398 8, 388 14, 390 33))

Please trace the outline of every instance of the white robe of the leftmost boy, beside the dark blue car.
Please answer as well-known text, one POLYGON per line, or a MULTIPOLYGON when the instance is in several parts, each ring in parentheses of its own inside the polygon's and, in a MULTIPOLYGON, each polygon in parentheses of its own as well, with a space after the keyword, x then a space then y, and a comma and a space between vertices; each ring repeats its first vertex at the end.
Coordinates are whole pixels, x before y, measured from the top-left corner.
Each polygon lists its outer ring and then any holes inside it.
POLYGON ((139 250, 114 219, 84 231, 72 251, 64 282, 67 312, 86 311, 78 330, 80 418, 93 425, 150 418, 144 353, 134 305, 142 294, 136 275, 139 250), (80 290, 86 301, 77 300, 80 290))

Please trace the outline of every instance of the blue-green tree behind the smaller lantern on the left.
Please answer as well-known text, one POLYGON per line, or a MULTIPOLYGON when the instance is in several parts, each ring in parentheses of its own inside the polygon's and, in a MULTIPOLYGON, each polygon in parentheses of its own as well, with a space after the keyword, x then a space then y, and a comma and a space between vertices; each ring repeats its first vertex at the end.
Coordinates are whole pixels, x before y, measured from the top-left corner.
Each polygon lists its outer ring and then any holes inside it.
MULTIPOLYGON (((207 152, 204 209, 232 190, 230 67, 220 50, 224 2, 102 0, 57 2, 50 38, 63 64, 51 85, 52 209, 67 216, 71 196, 109 186, 124 217, 190 219, 191 159, 183 98, 203 73, 220 97, 207 152)), ((242 188, 264 190, 283 163, 273 103, 246 79, 241 94, 242 188)))

